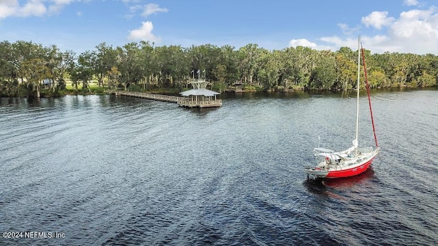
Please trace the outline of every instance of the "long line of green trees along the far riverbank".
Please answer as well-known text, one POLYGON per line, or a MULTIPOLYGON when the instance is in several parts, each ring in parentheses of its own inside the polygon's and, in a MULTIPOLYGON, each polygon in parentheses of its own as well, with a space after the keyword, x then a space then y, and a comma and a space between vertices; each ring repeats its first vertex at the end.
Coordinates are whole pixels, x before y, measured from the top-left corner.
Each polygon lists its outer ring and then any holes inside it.
MULTIPOLYGON (((357 52, 348 47, 338 51, 317 51, 289 47, 269 51, 257 44, 240 49, 203 44, 155 46, 130 42, 111 46, 105 42, 92 51, 76 54, 55 45, 28 41, 0 42, 0 96, 40 96, 42 81, 49 92, 90 90, 89 83, 110 90, 184 90, 193 77, 204 71, 220 92, 235 83, 259 90, 339 90, 354 88, 357 81, 357 52)), ((438 85, 437 55, 412 53, 372 54, 365 50, 370 87, 426 87, 438 85)), ((363 73, 363 69, 361 69, 363 73)), ((363 77, 363 74, 361 74, 363 77)))

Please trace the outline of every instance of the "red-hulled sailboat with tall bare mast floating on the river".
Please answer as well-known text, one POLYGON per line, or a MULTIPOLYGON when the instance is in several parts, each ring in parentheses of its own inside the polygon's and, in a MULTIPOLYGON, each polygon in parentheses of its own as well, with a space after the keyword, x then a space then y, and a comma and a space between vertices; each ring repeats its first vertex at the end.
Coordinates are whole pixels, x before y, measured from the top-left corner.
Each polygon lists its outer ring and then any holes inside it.
POLYGON ((356 107, 356 137, 352 141, 352 146, 346 150, 335 151, 326 148, 314 148, 316 165, 314 167, 306 167, 305 173, 307 176, 315 176, 316 178, 345 178, 356 176, 365 172, 370 167, 372 161, 377 156, 380 148, 378 147, 376 131, 374 128, 374 118, 372 116, 370 87, 368 85, 367 72, 365 67, 365 56, 363 48, 361 49, 361 38, 358 39, 357 52, 357 107, 356 107), (366 88, 368 92, 368 102, 370 105, 370 114, 372 128, 374 132, 374 140, 376 146, 359 148, 359 82, 360 82, 360 67, 361 54, 363 58, 363 69, 365 72, 366 88))

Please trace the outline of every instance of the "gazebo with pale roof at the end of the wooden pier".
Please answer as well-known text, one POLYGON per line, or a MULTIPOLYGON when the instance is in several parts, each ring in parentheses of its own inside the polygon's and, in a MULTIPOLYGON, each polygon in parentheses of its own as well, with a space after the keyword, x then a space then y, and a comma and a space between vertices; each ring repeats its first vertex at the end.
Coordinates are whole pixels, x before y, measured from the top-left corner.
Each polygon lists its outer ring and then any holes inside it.
MULTIPOLYGON (((198 71, 199 74, 199 71, 198 71)), ((207 90, 208 81, 205 79, 193 79, 193 89, 185 92, 180 92, 181 98, 178 98, 178 105, 181 107, 220 107, 222 106, 222 100, 216 98, 220 93, 207 90)))

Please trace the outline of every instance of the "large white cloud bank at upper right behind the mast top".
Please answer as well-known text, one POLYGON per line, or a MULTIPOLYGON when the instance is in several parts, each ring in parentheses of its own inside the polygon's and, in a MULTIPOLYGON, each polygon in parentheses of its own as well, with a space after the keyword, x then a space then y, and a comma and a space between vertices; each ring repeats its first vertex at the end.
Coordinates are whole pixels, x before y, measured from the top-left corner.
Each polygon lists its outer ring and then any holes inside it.
MULTIPOLYGON (((397 18, 388 16, 387 12, 372 12, 362 18, 362 23, 367 27, 376 28, 372 31, 375 34, 363 35, 361 39, 363 47, 372 53, 386 51, 420 55, 438 53, 438 8, 436 7, 401 12, 397 18)), ((345 30, 349 30, 348 25, 339 24, 338 26, 344 33, 345 30)), ((355 33, 359 34, 359 31, 355 31, 355 33)), ((320 50, 324 47, 337 51, 342 46, 348 46, 352 50, 356 50, 357 38, 352 33, 348 33, 347 36, 350 38, 339 38, 338 36, 320 38, 321 42, 317 42, 315 49, 320 50)))

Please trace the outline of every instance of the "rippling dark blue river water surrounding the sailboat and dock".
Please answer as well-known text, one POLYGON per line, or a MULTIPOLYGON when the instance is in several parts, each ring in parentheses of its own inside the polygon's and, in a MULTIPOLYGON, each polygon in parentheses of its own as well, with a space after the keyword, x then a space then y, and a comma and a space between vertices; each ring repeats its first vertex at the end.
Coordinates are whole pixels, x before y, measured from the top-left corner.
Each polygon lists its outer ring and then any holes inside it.
POLYGON ((437 90, 374 93, 380 159, 326 181, 303 167, 350 146, 354 98, 222 98, 0 98, 0 232, 27 232, 0 245, 437 245, 437 90))

